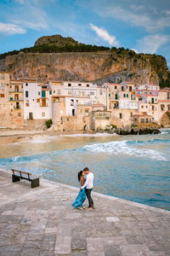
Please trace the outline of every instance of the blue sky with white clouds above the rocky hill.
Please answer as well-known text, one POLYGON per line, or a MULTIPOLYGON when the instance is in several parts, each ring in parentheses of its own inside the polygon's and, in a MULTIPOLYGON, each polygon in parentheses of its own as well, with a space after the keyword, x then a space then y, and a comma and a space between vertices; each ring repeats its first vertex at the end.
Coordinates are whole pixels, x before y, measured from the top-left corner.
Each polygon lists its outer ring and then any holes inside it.
POLYGON ((0 53, 55 34, 163 55, 170 68, 170 0, 0 0, 0 53))

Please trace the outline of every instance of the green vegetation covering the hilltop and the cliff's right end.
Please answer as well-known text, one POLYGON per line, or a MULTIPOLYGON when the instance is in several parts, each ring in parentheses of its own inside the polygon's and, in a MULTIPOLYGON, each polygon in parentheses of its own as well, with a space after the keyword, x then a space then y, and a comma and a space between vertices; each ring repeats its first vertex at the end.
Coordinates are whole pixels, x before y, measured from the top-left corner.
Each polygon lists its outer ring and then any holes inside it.
MULTIPOLYGON (((123 69, 122 77, 130 81, 138 81, 139 69, 145 67, 151 67, 150 70, 150 83, 154 83, 158 76, 159 83, 162 87, 170 87, 170 73, 167 68, 167 61, 161 55, 146 55, 136 54, 132 49, 124 49, 116 47, 105 47, 91 44, 81 44, 75 41, 73 38, 63 38, 60 35, 48 36, 38 38, 35 45, 30 48, 24 48, 20 50, 13 50, 0 55, 0 60, 5 59, 8 55, 18 55, 20 53, 96 53, 105 52, 111 54, 111 61, 113 63, 129 63, 129 68, 123 69), (142 64, 143 63, 143 64, 142 64)), ((105 62, 107 65, 107 62, 105 62)), ((101 77, 102 79, 102 77, 101 77)))

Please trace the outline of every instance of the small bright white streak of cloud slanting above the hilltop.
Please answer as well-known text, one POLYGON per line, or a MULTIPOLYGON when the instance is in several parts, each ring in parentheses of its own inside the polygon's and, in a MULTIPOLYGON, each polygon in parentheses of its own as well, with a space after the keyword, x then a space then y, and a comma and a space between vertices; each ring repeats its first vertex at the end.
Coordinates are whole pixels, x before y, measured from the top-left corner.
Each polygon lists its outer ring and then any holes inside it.
POLYGON ((96 34, 99 36, 99 38, 102 38, 104 41, 108 42, 113 46, 119 45, 119 42, 116 41, 116 37, 111 36, 104 28, 94 26, 93 24, 90 24, 90 26, 94 30, 94 32, 96 32, 96 34))

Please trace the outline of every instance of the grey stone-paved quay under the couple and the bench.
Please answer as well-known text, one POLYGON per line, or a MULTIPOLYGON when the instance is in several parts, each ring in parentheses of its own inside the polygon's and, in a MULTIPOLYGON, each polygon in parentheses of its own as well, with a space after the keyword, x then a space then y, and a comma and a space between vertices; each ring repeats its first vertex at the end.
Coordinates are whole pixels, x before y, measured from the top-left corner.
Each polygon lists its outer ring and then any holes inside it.
POLYGON ((31 189, 0 171, 0 255, 170 255, 170 212, 95 192, 96 209, 81 211, 71 207, 78 190, 44 180, 31 189))

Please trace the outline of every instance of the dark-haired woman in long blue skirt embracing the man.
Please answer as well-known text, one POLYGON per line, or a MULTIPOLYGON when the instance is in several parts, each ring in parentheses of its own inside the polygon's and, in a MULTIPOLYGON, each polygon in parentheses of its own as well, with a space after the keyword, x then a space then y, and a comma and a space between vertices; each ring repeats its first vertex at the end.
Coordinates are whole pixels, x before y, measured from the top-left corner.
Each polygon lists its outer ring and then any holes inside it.
MULTIPOLYGON (((83 186, 83 184, 85 183, 84 175, 85 175, 85 172, 83 172, 83 171, 78 172, 78 175, 77 175, 78 181, 81 183, 81 186, 83 186)), ((82 210, 82 204, 85 200, 86 200, 86 192, 85 192, 85 189, 82 189, 78 193, 77 198, 73 202, 72 206, 82 210)))

